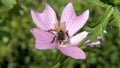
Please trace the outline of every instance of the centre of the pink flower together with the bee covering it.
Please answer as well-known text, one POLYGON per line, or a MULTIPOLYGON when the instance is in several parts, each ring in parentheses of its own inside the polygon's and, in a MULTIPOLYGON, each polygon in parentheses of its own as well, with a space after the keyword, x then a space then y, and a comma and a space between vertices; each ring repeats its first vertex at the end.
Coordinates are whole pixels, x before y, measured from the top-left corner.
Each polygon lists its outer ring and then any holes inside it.
POLYGON ((55 29, 51 30, 55 36, 53 37, 51 43, 56 42, 60 47, 66 47, 70 44, 70 37, 68 31, 66 31, 66 23, 62 23, 61 25, 54 24, 55 29))

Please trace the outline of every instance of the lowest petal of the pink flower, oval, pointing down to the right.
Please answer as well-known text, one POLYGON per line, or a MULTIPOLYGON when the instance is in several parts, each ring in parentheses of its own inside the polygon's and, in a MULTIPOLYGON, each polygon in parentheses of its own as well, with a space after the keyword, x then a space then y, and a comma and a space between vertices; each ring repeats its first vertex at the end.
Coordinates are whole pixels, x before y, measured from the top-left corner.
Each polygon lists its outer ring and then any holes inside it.
POLYGON ((86 55, 83 52, 83 50, 81 50, 78 47, 67 46, 67 47, 59 47, 58 49, 66 56, 69 56, 74 59, 85 59, 86 58, 86 55))

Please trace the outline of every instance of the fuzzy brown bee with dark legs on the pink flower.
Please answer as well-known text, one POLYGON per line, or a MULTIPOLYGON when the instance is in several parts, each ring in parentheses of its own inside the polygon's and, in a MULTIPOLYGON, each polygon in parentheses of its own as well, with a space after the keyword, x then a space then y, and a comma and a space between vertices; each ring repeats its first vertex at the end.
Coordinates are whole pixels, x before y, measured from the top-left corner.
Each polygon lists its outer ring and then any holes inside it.
POLYGON ((54 30, 49 30, 49 32, 51 31, 56 32, 56 34, 52 33, 55 36, 53 37, 51 43, 56 41, 58 45, 62 45, 66 43, 66 38, 69 39, 68 31, 65 30, 64 26, 55 26, 54 30))

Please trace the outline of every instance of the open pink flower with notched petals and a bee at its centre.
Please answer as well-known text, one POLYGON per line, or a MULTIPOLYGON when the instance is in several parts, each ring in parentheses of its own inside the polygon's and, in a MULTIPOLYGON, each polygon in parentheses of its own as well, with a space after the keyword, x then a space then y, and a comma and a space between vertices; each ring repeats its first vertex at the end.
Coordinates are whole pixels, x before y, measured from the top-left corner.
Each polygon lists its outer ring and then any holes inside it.
MULTIPOLYGON (((77 47, 77 44, 88 35, 88 32, 74 34, 85 25, 89 17, 89 10, 76 16, 72 4, 69 3, 64 8, 60 23, 58 23, 54 10, 46 4, 42 13, 31 10, 31 16, 38 26, 38 28, 31 29, 31 33, 35 37, 35 48, 40 50, 57 48, 64 55, 74 59, 86 58, 85 53, 77 47)), ((90 42, 90 44, 92 43, 90 42)))

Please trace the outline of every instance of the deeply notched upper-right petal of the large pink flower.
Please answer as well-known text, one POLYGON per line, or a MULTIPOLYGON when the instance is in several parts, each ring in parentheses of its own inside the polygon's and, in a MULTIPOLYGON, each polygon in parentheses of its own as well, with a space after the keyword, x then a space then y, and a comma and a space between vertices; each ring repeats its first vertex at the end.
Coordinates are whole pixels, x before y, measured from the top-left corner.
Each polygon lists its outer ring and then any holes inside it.
POLYGON ((85 25, 88 17, 89 10, 85 11, 80 16, 76 16, 72 3, 69 3, 62 12, 60 23, 66 22, 66 31, 72 36, 85 25))

